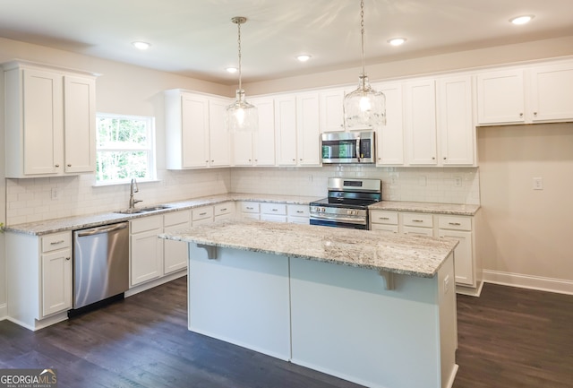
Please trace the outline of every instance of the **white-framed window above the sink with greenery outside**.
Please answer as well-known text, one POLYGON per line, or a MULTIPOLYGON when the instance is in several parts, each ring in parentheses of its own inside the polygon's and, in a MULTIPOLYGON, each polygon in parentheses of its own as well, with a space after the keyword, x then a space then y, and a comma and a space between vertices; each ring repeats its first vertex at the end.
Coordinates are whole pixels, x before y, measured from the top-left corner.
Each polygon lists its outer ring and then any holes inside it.
POLYGON ((155 118, 98 113, 96 184, 153 180, 155 118))

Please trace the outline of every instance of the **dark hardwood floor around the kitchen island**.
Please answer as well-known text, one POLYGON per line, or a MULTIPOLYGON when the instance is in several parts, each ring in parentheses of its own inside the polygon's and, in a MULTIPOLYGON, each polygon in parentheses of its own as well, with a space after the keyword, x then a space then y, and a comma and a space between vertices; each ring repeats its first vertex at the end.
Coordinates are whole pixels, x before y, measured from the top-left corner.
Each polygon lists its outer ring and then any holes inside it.
MULTIPOLYGON (((186 279, 38 332, 0 322, 0 368, 58 387, 358 387, 187 331, 186 279)), ((458 296, 454 388, 573 387, 573 296, 486 284, 458 296)), ((396 387, 408 388, 408 387, 396 387)))

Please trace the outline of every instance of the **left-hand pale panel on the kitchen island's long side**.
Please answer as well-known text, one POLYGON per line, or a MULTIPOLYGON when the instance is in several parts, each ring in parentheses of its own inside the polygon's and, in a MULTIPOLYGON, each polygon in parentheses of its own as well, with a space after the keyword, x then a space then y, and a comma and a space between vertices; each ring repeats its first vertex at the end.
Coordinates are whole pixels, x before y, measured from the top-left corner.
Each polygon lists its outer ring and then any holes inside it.
POLYGON ((218 247, 209 259, 188 246, 189 330, 289 359, 288 258, 218 247))

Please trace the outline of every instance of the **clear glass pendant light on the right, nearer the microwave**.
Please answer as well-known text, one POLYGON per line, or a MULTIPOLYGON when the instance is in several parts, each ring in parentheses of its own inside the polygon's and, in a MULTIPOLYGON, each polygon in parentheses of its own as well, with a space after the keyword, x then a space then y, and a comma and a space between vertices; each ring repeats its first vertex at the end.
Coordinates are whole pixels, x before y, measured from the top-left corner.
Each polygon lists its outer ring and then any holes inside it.
POLYGON ((386 96, 374 91, 364 71, 364 2, 360 1, 360 33, 362 36, 362 74, 358 89, 344 98, 344 125, 346 129, 376 129, 386 125, 386 96))

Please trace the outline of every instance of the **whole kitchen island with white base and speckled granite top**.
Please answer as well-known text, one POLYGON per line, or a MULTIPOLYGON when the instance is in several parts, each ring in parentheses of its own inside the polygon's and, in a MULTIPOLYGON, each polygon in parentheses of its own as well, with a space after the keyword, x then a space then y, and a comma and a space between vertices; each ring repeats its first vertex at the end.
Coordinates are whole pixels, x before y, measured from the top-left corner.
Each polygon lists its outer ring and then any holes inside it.
POLYGON ((253 220, 189 243, 189 330, 384 388, 445 388, 458 366, 456 240, 253 220))

